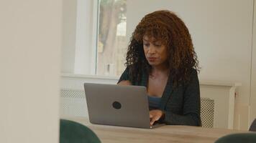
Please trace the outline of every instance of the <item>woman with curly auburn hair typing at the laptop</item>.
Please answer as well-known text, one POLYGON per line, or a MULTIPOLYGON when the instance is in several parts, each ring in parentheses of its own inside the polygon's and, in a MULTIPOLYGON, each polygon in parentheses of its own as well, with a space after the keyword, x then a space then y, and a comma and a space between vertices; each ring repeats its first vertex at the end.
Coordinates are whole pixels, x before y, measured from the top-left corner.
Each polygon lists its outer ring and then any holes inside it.
POLYGON ((120 85, 147 87, 150 124, 201 126, 198 60, 191 35, 171 11, 147 14, 132 34, 120 85))

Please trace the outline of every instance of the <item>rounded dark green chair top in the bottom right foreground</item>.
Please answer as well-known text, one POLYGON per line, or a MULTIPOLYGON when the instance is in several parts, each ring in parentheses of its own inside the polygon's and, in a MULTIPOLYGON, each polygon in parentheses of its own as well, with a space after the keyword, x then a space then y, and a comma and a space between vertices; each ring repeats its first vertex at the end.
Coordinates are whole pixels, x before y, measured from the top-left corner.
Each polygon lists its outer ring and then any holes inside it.
POLYGON ((255 143, 256 133, 228 134, 216 140, 215 143, 255 143))

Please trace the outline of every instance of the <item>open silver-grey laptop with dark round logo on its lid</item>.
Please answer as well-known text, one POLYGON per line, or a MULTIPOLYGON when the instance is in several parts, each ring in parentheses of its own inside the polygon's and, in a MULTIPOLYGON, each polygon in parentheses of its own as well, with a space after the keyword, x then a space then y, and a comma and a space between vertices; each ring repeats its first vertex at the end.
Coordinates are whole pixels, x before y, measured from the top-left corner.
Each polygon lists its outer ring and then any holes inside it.
POLYGON ((89 120, 93 124, 154 128, 146 87, 85 83, 89 120))

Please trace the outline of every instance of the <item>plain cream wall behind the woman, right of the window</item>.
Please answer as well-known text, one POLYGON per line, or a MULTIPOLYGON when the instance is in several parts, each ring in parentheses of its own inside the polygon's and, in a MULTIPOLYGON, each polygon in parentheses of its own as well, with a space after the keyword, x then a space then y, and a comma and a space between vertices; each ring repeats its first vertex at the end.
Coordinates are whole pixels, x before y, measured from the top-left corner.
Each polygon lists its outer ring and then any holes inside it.
MULTIPOLYGON (((247 129, 250 104, 253 0, 129 0, 127 33, 131 36, 142 16, 155 10, 175 11, 191 32, 202 67, 200 79, 240 82, 235 117, 247 129), (135 10, 136 9, 136 10, 135 10)), ((237 125, 235 125, 237 127, 237 125)))

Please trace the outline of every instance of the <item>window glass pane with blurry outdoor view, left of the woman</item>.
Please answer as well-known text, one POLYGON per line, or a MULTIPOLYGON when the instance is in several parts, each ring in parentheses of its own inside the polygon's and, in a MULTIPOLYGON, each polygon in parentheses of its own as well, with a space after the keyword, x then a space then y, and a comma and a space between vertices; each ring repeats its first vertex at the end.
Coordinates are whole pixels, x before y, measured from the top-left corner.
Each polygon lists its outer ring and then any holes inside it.
POLYGON ((99 0, 96 74, 119 76, 127 51, 126 0, 99 0))

